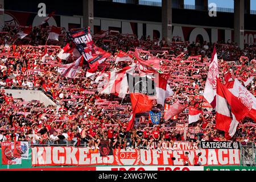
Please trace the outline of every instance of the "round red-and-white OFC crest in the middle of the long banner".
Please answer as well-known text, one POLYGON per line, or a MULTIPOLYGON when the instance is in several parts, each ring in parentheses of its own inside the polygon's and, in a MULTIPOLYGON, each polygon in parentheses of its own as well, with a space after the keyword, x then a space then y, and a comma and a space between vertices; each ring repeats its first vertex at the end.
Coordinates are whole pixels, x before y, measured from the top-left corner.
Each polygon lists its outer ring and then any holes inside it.
POLYGON ((139 150, 117 150, 115 151, 115 162, 119 166, 138 165, 141 161, 141 152, 139 150))

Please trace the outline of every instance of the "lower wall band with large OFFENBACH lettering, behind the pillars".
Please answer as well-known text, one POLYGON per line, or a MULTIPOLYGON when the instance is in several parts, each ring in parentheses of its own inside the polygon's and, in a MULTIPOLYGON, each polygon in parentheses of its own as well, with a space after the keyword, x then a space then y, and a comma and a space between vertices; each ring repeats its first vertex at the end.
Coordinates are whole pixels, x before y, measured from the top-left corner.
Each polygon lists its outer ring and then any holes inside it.
MULTIPOLYGON (((43 17, 39 17, 34 13, 5 11, 5 22, 8 24, 15 24, 21 26, 28 26, 32 24, 33 27, 39 26, 43 17)), ((64 27, 66 30, 72 28, 83 27, 82 16, 64 16, 55 15, 49 19, 49 26, 64 27)), ((125 20, 125 19, 111 19, 94 17, 94 32, 100 30, 115 30, 121 34, 135 34, 141 38, 144 36, 155 36, 162 39, 162 24, 160 22, 143 22, 141 20, 125 20)), ((227 27, 212 27, 199 26, 195 24, 178 24, 173 23, 172 35, 174 39, 179 38, 181 41, 196 41, 198 36, 207 42, 216 43, 217 41, 234 40, 233 28, 227 27)), ((245 30, 244 40, 247 44, 256 43, 256 31, 245 30)))

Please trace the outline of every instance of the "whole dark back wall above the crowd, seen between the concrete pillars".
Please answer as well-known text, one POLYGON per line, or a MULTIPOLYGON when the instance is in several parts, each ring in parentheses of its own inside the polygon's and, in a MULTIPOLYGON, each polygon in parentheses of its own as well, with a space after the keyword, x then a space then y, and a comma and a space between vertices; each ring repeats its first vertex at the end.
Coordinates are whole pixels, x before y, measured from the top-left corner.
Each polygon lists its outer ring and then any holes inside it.
MULTIPOLYGON (((26 0, 27 1, 27 0, 26 0)), ((22 26, 38 26, 44 17, 37 15, 39 1, 5 3, 5 22, 22 26), (26 5, 26 6, 24 6, 26 5), (28 12, 24 12, 28 11, 28 12)), ((47 13, 56 11, 49 19, 50 26, 71 28, 83 27, 82 1, 44 1, 47 13), (61 9, 59 5, 61 3, 61 9)), ((210 17, 208 11, 173 9, 172 35, 176 39, 195 41, 198 35, 208 42, 234 40, 234 14, 218 12, 216 17, 210 17), (199 21, 200 19, 200 21, 199 21)), ((256 44, 256 15, 245 14, 245 43, 256 44)), ((94 33, 100 30, 118 30, 122 34, 135 34, 141 38, 156 36, 162 39, 162 8, 155 6, 132 5, 94 1, 94 33), (131 13, 132 12, 132 13, 131 13)))

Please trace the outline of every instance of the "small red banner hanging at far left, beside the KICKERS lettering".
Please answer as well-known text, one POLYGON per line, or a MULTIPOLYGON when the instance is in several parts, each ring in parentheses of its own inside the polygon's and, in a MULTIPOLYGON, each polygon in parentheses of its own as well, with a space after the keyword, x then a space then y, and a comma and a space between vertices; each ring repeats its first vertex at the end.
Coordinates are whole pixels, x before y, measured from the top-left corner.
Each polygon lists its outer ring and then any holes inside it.
POLYGON ((2 142, 2 165, 21 164, 22 160, 15 142, 2 142))

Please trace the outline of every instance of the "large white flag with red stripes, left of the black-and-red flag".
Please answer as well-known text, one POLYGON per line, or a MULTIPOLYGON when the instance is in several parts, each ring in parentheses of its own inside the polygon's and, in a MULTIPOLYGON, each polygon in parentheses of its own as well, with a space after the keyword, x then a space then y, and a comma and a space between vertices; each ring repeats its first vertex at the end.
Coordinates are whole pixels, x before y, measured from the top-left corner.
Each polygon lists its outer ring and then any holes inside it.
POLYGON ((133 75, 136 64, 129 65, 118 71, 112 71, 109 73, 109 82, 105 88, 101 91, 101 94, 116 93, 118 97, 125 98, 127 90, 129 88, 127 73, 133 75))

